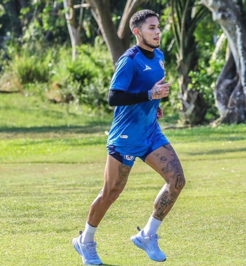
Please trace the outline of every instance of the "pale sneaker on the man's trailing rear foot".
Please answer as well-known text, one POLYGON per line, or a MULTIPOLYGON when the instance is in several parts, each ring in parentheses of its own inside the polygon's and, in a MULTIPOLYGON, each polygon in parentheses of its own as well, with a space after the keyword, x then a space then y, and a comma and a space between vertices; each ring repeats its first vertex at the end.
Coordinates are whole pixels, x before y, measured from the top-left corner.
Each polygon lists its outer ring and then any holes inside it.
POLYGON ((102 261, 96 252, 96 242, 84 245, 81 243, 81 239, 82 232, 79 237, 73 239, 72 243, 78 254, 82 257, 83 263, 85 265, 102 265, 102 261))

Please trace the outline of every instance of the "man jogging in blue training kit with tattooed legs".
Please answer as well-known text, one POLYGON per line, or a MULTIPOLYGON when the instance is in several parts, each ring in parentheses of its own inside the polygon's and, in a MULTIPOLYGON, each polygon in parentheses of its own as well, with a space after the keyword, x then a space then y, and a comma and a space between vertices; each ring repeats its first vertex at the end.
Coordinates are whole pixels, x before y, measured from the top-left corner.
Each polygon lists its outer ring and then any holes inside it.
POLYGON ((130 28, 137 44, 118 60, 109 89, 109 104, 116 106, 107 141, 104 185, 90 207, 85 231, 73 239, 85 265, 100 265, 94 234, 111 204, 124 190, 136 157, 159 173, 166 183, 158 193, 154 211, 144 229, 131 237, 137 247, 156 261, 166 260, 157 243, 157 229, 185 185, 180 161, 161 133, 157 119, 163 117, 160 99, 168 96, 164 84, 164 55, 158 14, 142 10, 133 14, 130 28))

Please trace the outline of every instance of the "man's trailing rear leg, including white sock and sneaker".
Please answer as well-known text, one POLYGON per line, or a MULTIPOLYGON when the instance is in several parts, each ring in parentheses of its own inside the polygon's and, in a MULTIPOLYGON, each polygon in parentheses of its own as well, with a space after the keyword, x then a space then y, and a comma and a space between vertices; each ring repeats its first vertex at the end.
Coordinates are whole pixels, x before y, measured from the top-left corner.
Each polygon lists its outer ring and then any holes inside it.
POLYGON ((103 216, 123 191, 131 167, 120 163, 108 155, 104 171, 104 185, 101 192, 91 204, 85 231, 79 237, 73 239, 72 243, 76 251, 82 257, 85 265, 102 265, 97 252, 94 234, 103 216))

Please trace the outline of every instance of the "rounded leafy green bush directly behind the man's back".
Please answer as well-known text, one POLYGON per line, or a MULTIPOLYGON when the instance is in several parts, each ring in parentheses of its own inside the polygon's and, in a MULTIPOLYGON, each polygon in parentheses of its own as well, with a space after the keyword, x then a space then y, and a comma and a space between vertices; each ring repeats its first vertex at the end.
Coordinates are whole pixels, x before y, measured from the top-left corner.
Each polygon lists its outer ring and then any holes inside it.
POLYGON ((75 61, 71 50, 62 48, 52 77, 53 86, 59 88, 63 101, 74 101, 91 108, 111 110, 107 102, 109 83, 113 75, 110 55, 100 39, 94 47, 81 45, 75 61))

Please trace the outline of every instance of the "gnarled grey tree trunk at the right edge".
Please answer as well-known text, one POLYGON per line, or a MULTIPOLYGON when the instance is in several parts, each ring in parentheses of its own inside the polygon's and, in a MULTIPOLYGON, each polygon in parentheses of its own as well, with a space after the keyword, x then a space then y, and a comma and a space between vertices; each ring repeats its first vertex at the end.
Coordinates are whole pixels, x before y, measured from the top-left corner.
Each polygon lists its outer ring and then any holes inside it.
POLYGON ((216 106, 222 123, 246 122, 246 20, 242 1, 201 0, 227 36, 231 54, 216 81, 216 106))

